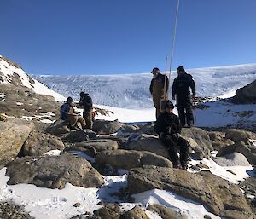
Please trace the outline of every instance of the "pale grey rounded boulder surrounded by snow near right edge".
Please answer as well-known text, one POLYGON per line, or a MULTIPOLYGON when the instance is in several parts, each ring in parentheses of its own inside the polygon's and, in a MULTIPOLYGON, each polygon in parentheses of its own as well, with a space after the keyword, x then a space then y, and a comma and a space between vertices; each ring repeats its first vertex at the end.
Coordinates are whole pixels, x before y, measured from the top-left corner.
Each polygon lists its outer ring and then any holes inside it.
POLYGON ((249 166, 247 158, 241 153, 230 153, 224 157, 214 158, 214 161, 221 166, 249 166))

